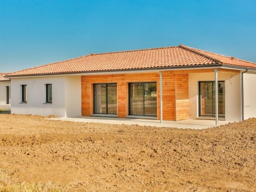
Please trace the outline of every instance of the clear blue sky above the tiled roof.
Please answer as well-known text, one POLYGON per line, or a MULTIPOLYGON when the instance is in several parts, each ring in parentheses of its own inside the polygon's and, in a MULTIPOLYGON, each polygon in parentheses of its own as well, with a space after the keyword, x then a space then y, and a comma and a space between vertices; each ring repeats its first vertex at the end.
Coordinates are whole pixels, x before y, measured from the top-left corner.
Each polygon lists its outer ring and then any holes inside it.
POLYGON ((184 44, 256 62, 255 0, 0 0, 0 72, 184 44))

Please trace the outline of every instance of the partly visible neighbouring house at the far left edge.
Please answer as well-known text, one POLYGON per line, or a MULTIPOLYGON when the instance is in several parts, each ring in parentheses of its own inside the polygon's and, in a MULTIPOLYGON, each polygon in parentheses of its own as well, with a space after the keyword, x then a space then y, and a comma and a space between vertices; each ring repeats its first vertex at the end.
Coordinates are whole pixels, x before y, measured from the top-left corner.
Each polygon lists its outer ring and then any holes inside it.
POLYGON ((11 80, 0 73, 0 109, 11 109, 11 80))

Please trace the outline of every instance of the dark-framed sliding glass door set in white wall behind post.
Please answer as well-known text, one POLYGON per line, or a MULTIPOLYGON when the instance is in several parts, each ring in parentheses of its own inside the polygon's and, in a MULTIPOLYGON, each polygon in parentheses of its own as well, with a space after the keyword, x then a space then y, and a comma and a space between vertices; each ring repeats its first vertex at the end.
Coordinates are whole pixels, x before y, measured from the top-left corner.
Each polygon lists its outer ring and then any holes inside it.
MULTIPOLYGON (((215 116, 215 82, 199 82, 199 116, 215 116)), ((225 117, 225 82, 218 81, 218 116, 225 117)))

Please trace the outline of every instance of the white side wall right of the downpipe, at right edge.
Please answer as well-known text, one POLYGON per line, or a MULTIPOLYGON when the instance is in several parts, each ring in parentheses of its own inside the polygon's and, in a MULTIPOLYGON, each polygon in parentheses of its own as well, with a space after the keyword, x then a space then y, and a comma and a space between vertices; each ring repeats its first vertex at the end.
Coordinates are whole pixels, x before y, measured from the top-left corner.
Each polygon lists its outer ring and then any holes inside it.
POLYGON ((256 74, 244 73, 244 120, 256 117, 256 74))

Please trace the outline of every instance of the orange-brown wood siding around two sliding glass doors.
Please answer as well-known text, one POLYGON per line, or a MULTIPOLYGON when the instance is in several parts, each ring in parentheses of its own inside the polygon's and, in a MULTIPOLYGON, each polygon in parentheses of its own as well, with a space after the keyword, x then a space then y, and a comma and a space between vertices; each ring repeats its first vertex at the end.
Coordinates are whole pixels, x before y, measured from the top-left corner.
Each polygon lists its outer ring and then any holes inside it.
MULTIPOLYGON (((163 119, 188 119, 188 74, 173 74, 170 71, 163 71, 162 76, 163 119)), ((128 83, 135 82, 156 82, 157 119, 160 119, 159 73, 82 76, 82 116, 90 116, 93 114, 94 83, 117 83, 117 116, 119 118, 125 118, 126 116, 128 116, 129 109, 128 83)))

